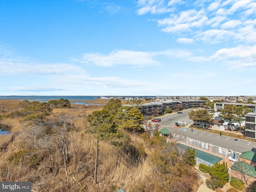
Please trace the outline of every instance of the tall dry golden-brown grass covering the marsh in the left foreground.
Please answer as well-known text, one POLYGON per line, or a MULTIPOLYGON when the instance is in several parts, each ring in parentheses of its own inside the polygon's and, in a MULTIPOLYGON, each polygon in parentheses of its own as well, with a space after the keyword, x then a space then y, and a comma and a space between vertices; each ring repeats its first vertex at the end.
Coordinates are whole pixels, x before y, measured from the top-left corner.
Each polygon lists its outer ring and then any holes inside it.
MULTIPOLYGON (((102 101, 102 100, 100 100, 102 101)), ((104 102, 104 101, 102 101, 104 102)), ((14 107, 15 108, 15 107, 14 107)), ((102 108, 102 106, 101 106, 102 108)), ((2 181, 31 181, 34 190, 42 192, 83 191, 114 192, 123 188, 126 192, 160 191, 158 178, 152 170, 150 155, 153 151, 139 136, 130 135, 130 145, 144 151, 147 156, 134 160, 124 150, 118 149, 104 141, 99 144, 98 184, 94 184, 95 144, 94 139, 85 134, 86 117, 100 108, 85 108, 73 105, 70 109, 54 109, 51 116, 65 113, 73 117, 74 129, 66 135, 68 146, 68 170, 70 182, 66 182, 61 148, 54 150, 53 159, 56 172, 50 170, 50 156, 47 152, 37 154, 40 164, 32 166, 28 159, 16 157, 24 150, 33 147, 26 132, 26 124, 18 118, 6 118, 2 124, 12 127, 11 134, 0 136, 0 180, 2 181), (4 147, 5 150, 4 150, 4 147), (1 150, 1 148, 3 150, 1 150), (18 159, 19 160, 19 159, 18 159), (72 182, 71 178, 78 180, 72 182), (156 185, 156 186, 154 186, 156 185)), ((58 144, 57 144, 58 145, 58 144)), ((32 159, 33 160, 33 159, 32 159)), ((192 182, 192 181, 190 181, 192 182)))

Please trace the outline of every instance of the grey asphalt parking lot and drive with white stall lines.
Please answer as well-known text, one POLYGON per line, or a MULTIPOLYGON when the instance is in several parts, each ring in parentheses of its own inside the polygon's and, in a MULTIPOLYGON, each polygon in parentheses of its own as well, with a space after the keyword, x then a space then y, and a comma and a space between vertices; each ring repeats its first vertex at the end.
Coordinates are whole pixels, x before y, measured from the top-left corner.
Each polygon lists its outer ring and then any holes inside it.
POLYGON ((189 110, 183 111, 183 114, 181 115, 171 114, 171 115, 161 117, 162 121, 159 123, 160 128, 167 128, 172 133, 175 133, 184 137, 189 137, 201 142, 206 142, 208 144, 212 144, 215 146, 220 146, 222 148, 226 148, 226 149, 233 150, 240 153, 246 152, 249 150, 256 152, 256 142, 250 142, 243 139, 235 141, 234 140, 235 138, 228 137, 228 136, 220 136, 219 134, 205 132, 203 130, 193 130, 192 132, 191 129, 188 128, 188 125, 182 128, 175 128, 174 124, 179 120, 187 122, 187 124, 193 123, 192 120, 188 119, 188 111, 189 110))

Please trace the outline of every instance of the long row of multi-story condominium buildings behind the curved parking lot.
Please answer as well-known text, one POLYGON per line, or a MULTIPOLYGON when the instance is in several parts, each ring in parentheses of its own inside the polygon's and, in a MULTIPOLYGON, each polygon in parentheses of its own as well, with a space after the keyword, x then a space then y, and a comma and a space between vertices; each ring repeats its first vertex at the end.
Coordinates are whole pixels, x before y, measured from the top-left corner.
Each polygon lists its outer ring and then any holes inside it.
POLYGON ((204 107, 203 100, 167 100, 145 103, 141 106, 140 111, 144 116, 152 116, 163 114, 167 107, 170 107, 172 111, 202 108, 204 107))

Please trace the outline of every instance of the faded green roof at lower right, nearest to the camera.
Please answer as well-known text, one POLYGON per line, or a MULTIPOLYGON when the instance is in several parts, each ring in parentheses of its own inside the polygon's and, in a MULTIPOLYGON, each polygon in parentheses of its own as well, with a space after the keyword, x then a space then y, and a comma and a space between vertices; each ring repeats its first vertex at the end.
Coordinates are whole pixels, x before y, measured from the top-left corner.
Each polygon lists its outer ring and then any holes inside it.
POLYGON ((253 166, 250 166, 245 161, 234 162, 234 164, 231 166, 231 169, 242 174, 246 174, 247 176, 250 176, 252 178, 256 178, 255 168, 253 166))

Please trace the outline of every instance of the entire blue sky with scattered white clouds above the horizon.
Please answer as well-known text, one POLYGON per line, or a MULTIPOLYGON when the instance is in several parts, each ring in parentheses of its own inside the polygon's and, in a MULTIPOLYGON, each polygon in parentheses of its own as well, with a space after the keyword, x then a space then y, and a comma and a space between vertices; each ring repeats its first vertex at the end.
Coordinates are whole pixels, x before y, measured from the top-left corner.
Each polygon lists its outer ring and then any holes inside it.
POLYGON ((1 0, 0 95, 256 95, 256 1, 1 0))

